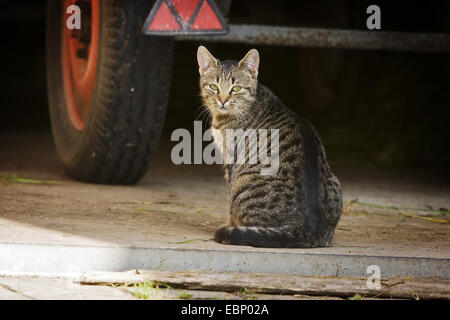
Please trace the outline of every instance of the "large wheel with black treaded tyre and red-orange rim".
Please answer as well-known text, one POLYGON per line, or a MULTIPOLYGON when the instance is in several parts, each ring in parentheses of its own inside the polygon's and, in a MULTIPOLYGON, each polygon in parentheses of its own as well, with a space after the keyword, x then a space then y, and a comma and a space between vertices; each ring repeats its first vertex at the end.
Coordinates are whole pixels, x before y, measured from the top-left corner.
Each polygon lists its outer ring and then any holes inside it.
POLYGON ((141 34, 152 1, 47 5, 47 82, 53 139, 66 171, 133 184, 146 172, 166 113, 173 41, 141 34), (69 30, 77 5, 81 29, 69 30))

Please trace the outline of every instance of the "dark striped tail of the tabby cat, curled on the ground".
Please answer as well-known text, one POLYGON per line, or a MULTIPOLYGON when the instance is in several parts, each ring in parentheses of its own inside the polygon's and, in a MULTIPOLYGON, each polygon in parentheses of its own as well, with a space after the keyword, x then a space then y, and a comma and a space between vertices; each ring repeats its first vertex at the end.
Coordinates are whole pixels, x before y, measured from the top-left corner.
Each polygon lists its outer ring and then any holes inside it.
POLYGON ((281 228, 223 226, 217 229, 214 240, 223 244, 253 247, 298 247, 293 234, 281 228))

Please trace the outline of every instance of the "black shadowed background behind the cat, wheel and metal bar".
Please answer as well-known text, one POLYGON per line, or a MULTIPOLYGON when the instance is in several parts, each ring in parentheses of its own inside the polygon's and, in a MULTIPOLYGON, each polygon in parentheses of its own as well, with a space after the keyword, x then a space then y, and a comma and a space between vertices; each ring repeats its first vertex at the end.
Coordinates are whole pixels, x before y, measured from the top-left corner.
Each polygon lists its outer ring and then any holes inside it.
MULTIPOLYGON (((369 4, 381 7, 383 30, 450 33, 448 1, 234 1, 229 22, 362 30, 369 4)), ((0 131, 50 132, 45 2, 2 1, 0 25, 0 131)), ((165 136, 199 119, 198 45, 176 44, 165 136)), ((251 48, 205 45, 223 59, 240 59, 251 48)), ((450 164, 450 54, 256 48, 260 81, 313 123, 332 162, 450 164)))

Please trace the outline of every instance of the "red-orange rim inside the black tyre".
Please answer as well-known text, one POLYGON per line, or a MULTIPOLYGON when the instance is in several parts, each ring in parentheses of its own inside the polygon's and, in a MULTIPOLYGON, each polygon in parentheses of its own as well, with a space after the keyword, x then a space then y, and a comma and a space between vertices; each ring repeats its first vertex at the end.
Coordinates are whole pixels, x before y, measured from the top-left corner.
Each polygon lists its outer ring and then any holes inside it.
POLYGON ((99 0, 65 0, 63 7, 62 67, 69 118, 77 130, 85 125, 95 87, 100 29, 99 0), (81 11, 81 29, 70 30, 66 13, 70 5, 81 11))

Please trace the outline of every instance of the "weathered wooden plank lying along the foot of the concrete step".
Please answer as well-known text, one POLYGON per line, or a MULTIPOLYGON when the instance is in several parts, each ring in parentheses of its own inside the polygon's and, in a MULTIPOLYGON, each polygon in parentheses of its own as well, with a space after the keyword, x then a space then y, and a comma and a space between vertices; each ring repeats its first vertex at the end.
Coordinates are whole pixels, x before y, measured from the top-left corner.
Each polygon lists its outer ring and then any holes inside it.
POLYGON ((81 283, 88 285, 164 283, 173 288, 236 292, 248 289, 264 294, 304 294, 316 296, 403 299, 450 299, 450 280, 438 278, 389 277, 381 280, 381 289, 368 289, 367 280, 350 277, 301 277, 282 274, 153 271, 87 272, 81 283))

